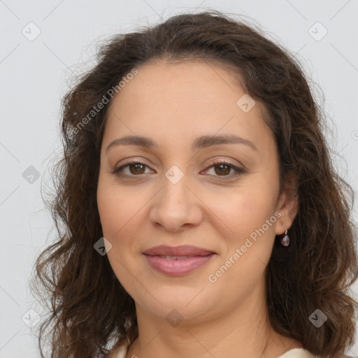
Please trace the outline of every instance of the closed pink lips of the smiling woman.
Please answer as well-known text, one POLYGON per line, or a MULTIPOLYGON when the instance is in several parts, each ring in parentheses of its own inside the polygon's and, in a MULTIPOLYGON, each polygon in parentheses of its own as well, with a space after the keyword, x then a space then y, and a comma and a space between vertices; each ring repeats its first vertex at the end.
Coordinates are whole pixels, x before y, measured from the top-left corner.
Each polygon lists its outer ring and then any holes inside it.
POLYGON ((164 275, 180 276, 187 275, 197 268, 205 265, 215 255, 215 252, 191 245, 166 246, 159 245, 143 252, 148 264, 164 275), (166 256, 187 256, 184 259, 169 259, 166 256))

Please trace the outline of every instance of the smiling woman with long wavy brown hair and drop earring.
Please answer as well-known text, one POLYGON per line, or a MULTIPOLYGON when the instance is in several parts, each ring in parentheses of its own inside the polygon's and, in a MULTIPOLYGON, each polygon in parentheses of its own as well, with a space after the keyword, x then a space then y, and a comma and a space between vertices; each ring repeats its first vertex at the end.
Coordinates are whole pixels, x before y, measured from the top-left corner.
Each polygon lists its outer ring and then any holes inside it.
POLYGON ((343 357, 355 227, 323 120, 220 12, 115 36, 64 99, 40 349, 52 324, 51 357, 343 357))

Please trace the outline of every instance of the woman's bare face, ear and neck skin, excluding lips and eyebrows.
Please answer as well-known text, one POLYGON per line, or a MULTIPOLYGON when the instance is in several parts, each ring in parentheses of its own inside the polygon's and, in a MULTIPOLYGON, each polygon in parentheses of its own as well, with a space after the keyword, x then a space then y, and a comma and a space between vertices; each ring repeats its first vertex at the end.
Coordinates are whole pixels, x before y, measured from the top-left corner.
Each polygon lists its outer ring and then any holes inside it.
POLYGON ((275 235, 289 229, 296 198, 279 192, 278 152, 262 120, 262 105, 244 113, 245 94, 233 73, 219 64, 165 62, 138 67, 113 98, 103 134, 98 208, 108 259, 136 303, 139 336, 127 357, 266 357, 300 343, 280 336, 267 320, 264 274, 275 235), (251 141, 192 150, 199 136, 235 134, 251 141), (124 136, 146 136, 155 148, 108 144, 124 136), (127 166, 121 178, 113 171, 127 166), (245 173, 220 169, 229 161, 245 173), (130 163, 129 163, 130 164, 130 163), (165 173, 176 165, 183 177, 165 173), (229 178, 228 180, 225 180, 229 178), (216 282, 215 273, 246 238, 275 212, 280 218, 258 236, 216 282), (151 268, 142 252, 156 245, 195 245, 217 253, 192 273, 171 277, 151 268), (176 309, 174 327, 166 316, 176 309))

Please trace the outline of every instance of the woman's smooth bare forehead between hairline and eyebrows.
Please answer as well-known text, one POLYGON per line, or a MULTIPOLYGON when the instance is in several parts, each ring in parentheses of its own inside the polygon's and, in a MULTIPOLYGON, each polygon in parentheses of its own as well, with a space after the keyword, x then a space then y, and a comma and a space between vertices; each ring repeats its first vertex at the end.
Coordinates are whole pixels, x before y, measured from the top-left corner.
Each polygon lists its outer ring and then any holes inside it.
POLYGON ((272 140, 262 104, 255 101, 248 112, 238 106, 247 96, 238 73, 208 62, 161 62, 137 70, 110 103, 108 141, 135 134, 184 143, 186 138, 233 132, 262 145, 272 140))

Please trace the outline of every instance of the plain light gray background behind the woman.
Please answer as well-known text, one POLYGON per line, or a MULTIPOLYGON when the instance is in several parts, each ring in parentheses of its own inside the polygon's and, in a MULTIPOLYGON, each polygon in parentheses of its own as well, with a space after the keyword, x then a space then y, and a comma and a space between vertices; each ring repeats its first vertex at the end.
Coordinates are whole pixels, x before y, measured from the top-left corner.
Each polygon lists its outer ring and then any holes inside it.
MULTIPOLYGON (((34 260, 55 236, 49 235, 52 220, 41 188, 50 185, 49 171, 61 154, 62 96, 94 64, 99 39, 208 8, 251 17, 299 56, 324 92, 336 165, 357 192, 357 0, 0 0, 0 358, 38 357, 36 313, 43 315, 43 308, 28 280, 34 260), (34 38, 36 31, 41 34, 34 38), (40 178, 31 177, 29 166, 40 178)), ((358 344, 350 355, 358 355, 358 344)))

